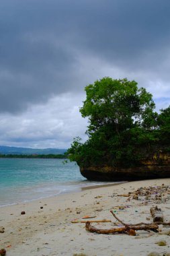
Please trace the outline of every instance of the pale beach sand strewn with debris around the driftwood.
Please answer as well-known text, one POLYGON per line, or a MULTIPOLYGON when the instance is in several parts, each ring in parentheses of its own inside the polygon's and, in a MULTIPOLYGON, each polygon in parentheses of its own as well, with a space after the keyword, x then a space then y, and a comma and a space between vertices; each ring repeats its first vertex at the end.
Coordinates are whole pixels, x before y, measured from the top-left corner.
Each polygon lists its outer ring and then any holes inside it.
MULTIPOLYGON (((110 210, 124 222, 152 222, 150 207, 158 205, 163 210, 165 221, 170 221, 170 190, 159 200, 130 199, 118 196, 140 187, 170 185, 170 179, 136 181, 109 187, 87 189, 56 197, 10 205, 0 208, 0 249, 7 256, 50 256, 50 255, 170 255, 170 239, 167 234, 136 232, 128 234, 94 234, 85 230, 85 224, 71 221, 83 216, 96 216, 93 220, 109 219, 112 223, 93 224, 97 228, 113 228, 115 222, 110 210), (157 204, 158 203, 158 204, 157 204), (124 210, 119 210, 124 206, 124 210), (43 207, 40 209, 40 207, 43 207), (26 214, 21 215, 25 211, 26 214), (150 220, 149 220, 149 219, 150 220), (167 245, 159 246, 164 240, 167 245)), ((161 226, 160 226, 161 228, 161 226)), ((170 230, 169 226, 163 231, 170 230)))

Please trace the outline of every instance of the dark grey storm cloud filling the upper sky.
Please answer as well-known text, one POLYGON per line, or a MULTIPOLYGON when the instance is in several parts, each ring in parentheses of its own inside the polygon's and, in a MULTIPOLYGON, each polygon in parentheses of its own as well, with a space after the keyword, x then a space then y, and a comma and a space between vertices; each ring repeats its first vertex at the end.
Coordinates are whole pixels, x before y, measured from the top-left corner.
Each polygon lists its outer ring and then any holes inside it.
POLYGON ((0 111, 83 90, 84 56, 167 82, 169 11, 169 0, 1 1, 0 111))

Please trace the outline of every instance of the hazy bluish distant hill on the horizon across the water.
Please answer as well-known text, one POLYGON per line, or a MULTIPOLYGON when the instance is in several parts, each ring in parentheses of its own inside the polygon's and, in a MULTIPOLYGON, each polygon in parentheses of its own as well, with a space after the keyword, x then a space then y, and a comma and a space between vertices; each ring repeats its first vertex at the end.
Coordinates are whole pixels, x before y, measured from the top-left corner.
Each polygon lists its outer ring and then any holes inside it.
POLYGON ((34 149, 34 148, 17 148, 0 146, 0 154, 64 154, 67 152, 66 149, 58 148, 45 148, 45 149, 34 149))

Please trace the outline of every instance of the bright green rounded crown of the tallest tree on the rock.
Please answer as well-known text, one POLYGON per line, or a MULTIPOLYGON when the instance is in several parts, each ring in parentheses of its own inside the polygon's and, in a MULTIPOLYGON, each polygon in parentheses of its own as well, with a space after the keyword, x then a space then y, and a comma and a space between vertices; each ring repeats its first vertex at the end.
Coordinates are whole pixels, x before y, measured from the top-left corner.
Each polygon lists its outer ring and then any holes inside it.
POLYGON ((87 98, 80 108, 82 117, 89 118, 87 133, 103 126, 111 126, 120 133, 134 126, 150 127, 155 103, 144 88, 135 81, 104 77, 85 88, 87 98))

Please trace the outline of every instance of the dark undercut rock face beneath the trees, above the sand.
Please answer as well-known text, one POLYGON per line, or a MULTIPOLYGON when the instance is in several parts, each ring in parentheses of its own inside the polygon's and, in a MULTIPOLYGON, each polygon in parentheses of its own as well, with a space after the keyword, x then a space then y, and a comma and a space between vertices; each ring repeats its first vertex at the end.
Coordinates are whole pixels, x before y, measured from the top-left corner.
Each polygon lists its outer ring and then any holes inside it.
POLYGON ((114 166, 80 167, 83 177, 95 181, 139 181, 170 178, 170 154, 153 155, 141 160, 141 166, 121 168, 114 166))

